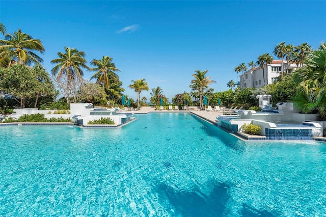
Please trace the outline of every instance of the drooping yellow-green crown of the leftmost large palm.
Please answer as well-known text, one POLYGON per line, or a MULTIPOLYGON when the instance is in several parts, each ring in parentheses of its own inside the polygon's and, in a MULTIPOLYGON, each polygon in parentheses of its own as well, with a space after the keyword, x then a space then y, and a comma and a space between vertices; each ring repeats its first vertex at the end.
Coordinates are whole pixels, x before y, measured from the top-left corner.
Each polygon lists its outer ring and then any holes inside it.
POLYGON ((13 34, 6 34, 4 40, 0 40, 0 61, 3 64, 8 62, 31 65, 32 63, 42 63, 43 60, 34 51, 44 53, 45 49, 39 39, 33 39, 32 36, 22 33, 18 29, 13 34))

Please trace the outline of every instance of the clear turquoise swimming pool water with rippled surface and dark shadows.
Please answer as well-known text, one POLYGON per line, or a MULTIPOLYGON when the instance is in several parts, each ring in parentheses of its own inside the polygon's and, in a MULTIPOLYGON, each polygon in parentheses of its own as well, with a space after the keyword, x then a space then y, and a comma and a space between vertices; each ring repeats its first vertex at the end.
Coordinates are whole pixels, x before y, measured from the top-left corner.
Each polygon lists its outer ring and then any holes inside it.
POLYGON ((0 128, 0 216, 323 216, 326 144, 244 143, 186 113, 0 128))

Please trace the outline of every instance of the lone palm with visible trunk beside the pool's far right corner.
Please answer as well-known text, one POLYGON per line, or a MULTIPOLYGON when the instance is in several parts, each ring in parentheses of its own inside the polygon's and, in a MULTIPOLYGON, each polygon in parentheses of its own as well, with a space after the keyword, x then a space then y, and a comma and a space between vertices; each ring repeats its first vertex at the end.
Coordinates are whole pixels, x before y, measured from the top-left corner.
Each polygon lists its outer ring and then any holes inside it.
POLYGON ((198 90, 199 93, 199 105, 201 110, 205 110, 205 107, 203 105, 203 93, 204 90, 208 88, 209 84, 216 83, 215 80, 210 80, 210 76, 206 77, 206 73, 208 70, 200 71, 196 70, 196 73, 193 74, 195 79, 191 80, 190 87, 193 90, 198 90))

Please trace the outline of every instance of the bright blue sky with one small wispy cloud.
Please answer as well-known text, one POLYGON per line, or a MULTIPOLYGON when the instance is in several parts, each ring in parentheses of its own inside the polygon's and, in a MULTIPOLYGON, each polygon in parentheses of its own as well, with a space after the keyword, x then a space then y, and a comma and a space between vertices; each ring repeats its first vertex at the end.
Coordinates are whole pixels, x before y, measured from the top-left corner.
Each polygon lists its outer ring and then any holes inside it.
POLYGON ((133 99, 132 79, 161 87, 171 101, 191 91, 195 70, 207 69, 216 81, 210 88, 220 92, 238 80, 237 65, 272 54, 282 41, 313 49, 326 41, 326 1, 1 0, 0 21, 8 33, 19 28, 42 41, 48 72, 64 46, 85 51, 88 62, 112 57, 133 99))

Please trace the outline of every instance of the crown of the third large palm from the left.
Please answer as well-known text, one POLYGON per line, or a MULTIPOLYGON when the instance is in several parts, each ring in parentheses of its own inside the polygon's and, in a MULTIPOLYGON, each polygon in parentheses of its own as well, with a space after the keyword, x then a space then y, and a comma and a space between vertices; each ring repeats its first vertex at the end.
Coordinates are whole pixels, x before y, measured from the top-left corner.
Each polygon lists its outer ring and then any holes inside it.
POLYGON ((103 84, 103 89, 107 89, 110 85, 109 80, 111 78, 118 78, 119 76, 115 73, 116 71, 120 71, 116 68, 116 65, 111 62, 112 58, 108 56, 103 56, 102 60, 93 59, 91 64, 96 66, 92 68, 91 71, 96 71, 96 73, 91 77, 91 79, 96 78, 97 84, 103 84))

